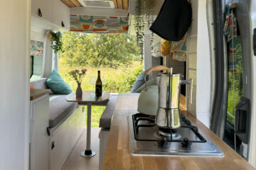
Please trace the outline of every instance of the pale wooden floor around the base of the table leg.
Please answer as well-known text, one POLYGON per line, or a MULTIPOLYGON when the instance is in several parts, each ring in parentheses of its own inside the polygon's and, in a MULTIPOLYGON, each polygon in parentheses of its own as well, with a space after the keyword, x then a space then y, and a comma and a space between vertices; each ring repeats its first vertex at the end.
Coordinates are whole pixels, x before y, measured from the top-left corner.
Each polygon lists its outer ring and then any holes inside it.
POLYGON ((99 152, 100 152, 100 140, 99 140, 100 128, 92 128, 91 148, 96 152, 95 157, 85 158, 81 157, 80 153, 85 150, 86 145, 86 130, 80 136, 77 144, 73 148, 73 151, 68 156, 62 170, 98 170, 99 169, 99 152))

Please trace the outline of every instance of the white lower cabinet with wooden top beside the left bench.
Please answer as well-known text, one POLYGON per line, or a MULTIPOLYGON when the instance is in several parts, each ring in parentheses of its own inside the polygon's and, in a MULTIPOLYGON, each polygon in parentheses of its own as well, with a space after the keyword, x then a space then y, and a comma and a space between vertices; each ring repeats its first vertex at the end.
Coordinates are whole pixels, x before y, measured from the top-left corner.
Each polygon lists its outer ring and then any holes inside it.
POLYGON ((46 128, 49 126, 48 94, 31 101, 30 123, 30 169, 49 169, 50 137, 46 128))

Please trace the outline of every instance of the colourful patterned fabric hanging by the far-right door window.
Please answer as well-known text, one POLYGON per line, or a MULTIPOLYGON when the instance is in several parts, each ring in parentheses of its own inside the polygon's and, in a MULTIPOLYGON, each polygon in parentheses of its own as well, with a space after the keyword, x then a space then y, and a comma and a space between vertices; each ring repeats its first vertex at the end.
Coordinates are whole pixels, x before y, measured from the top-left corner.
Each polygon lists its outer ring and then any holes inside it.
POLYGON ((224 35, 228 42, 228 71, 236 72, 237 20, 231 6, 225 6, 224 35))

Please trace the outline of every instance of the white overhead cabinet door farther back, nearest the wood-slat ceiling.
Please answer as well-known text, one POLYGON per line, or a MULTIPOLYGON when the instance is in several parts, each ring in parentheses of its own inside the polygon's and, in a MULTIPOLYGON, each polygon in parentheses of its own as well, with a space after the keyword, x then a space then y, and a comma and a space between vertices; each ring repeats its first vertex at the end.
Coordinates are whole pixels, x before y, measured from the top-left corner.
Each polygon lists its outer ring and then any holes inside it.
POLYGON ((53 0, 53 23, 70 30, 70 8, 60 0, 53 0))

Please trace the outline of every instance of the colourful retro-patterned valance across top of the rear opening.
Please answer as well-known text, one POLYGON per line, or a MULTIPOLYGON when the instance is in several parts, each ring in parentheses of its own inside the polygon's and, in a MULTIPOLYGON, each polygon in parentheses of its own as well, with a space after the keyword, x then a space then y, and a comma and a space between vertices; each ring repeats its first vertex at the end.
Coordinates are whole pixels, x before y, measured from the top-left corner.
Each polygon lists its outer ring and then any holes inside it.
POLYGON ((70 16, 70 31, 85 33, 128 33, 128 17, 70 16))

